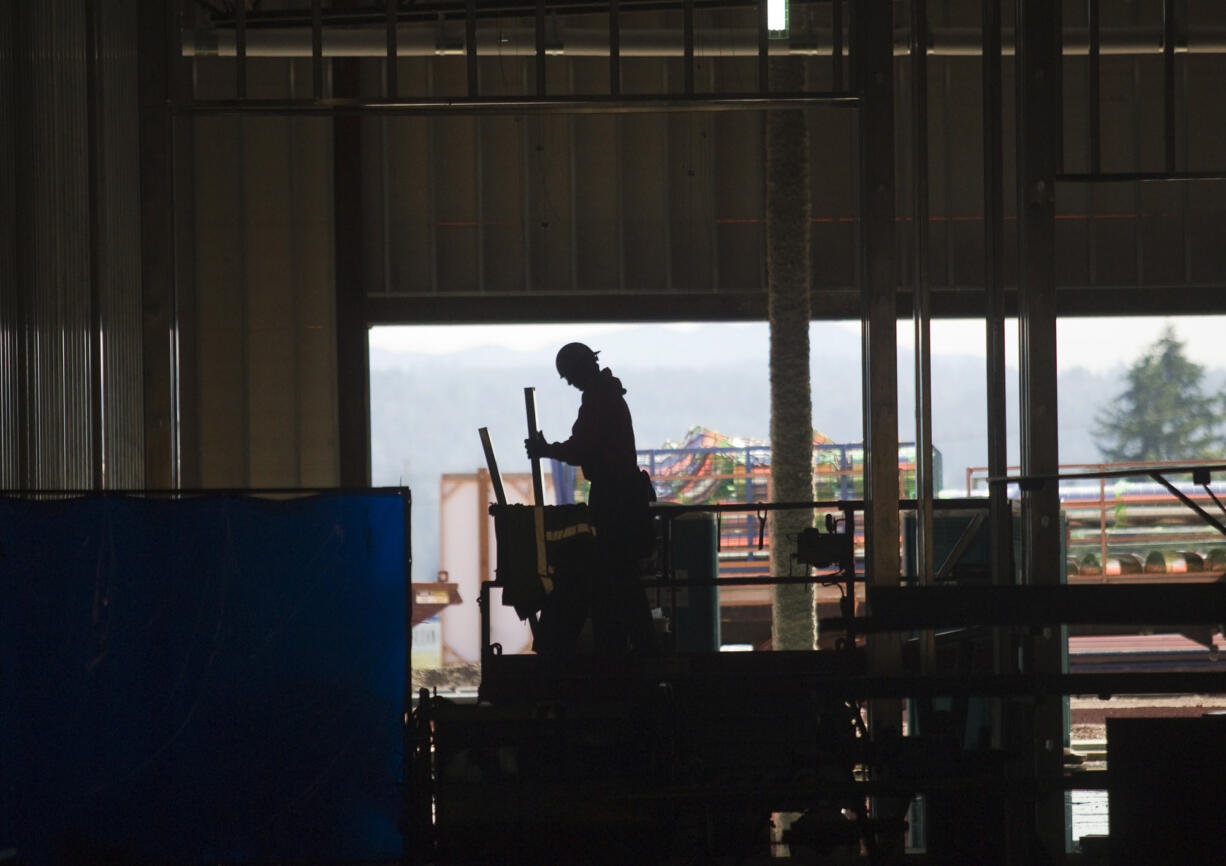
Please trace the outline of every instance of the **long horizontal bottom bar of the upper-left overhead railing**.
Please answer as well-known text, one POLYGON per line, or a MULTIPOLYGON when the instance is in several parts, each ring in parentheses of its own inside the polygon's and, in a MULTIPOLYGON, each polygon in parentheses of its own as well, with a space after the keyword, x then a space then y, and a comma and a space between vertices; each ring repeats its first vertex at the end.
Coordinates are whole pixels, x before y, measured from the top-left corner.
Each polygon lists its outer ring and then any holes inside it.
POLYGON ((215 99, 175 107, 179 114, 292 114, 342 117, 353 114, 406 114, 450 117, 477 114, 636 114, 652 112, 728 112, 831 105, 857 108, 859 99, 847 93, 684 93, 566 96, 566 97, 423 97, 418 99, 215 99))

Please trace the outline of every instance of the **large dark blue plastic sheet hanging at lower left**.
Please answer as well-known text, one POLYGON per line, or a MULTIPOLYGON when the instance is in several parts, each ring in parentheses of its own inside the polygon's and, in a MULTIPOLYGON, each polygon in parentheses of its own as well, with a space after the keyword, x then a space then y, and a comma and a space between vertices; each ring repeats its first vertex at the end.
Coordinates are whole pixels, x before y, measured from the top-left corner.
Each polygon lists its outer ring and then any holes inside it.
POLYGON ((0 851, 395 859, 407 491, 0 498, 0 851))

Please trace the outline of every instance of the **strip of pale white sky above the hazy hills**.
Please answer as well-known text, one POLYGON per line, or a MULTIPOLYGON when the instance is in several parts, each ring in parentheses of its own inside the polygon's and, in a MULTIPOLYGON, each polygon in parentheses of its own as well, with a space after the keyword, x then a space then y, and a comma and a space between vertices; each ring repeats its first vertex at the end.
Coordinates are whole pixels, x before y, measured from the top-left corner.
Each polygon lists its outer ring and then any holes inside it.
MULTIPOLYGON (((1188 357, 1205 367, 1226 367, 1226 316, 1179 318, 1103 318, 1062 319, 1058 323, 1058 363, 1060 369, 1084 367, 1101 372, 1117 364, 1128 364, 1161 335, 1166 324, 1176 329, 1184 341, 1188 357)), ((815 323, 814 328, 837 328, 850 335, 859 332, 859 323, 815 323)), ((497 346, 511 351, 539 351, 557 347, 570 340, 598 343, 601 335, 639 328, 639 325, 439 325, 376 328, 370 332, 371 348, 389 352, 411 350, 414 353, 452 354, 474 348, 497 346)), ((700 324, 666 325, 678 334, 701 330, 700 324)), ((743 325, 747 340, 765 340, 761 323, 743 325)), ((933 323, 933 353, 982 357, 983 323, 981 320, 940 320, 933 323)), ((900 351, 913 351, 912 325, 899 323, 900 351)), ((1018 329, 1010 320, 1005 330, 1005 362, 1018 366, 1018 329)))

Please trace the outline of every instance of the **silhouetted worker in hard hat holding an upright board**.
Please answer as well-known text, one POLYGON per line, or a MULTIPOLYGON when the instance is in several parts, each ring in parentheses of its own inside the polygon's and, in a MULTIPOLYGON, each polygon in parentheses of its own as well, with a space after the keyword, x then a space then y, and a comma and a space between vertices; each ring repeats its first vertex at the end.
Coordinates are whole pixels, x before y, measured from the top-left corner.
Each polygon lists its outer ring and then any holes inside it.
POLYGON ((526 439, 528 458, 552 458, 580 466, 591 482, 587 505, 596 524, 598 562, 592 586, 596 649, 620 654, 626 640, 644 654, 657 651, 651 608, 639 578, 639 561, 651 552, 653 534, 647 503, 656 498, 651 478, 639 469, 634 423, 625 389, 597 353, 581 342, 558 350, 558 375, 582 391, 579 417, 565 442, 544 434, 526 439))

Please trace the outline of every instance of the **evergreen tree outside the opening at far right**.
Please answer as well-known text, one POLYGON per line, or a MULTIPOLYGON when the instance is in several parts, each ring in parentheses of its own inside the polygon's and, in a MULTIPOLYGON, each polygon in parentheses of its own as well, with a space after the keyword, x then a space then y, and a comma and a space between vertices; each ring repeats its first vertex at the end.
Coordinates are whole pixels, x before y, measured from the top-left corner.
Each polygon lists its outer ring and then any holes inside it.
POLYGON ((1167 325, 1128 370, 1128 386, 1098 412, 1095 438, 1107 461, 1198 460, 1222 454, 1219 397, 1201 391, 1204 368, 1167 325))

